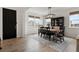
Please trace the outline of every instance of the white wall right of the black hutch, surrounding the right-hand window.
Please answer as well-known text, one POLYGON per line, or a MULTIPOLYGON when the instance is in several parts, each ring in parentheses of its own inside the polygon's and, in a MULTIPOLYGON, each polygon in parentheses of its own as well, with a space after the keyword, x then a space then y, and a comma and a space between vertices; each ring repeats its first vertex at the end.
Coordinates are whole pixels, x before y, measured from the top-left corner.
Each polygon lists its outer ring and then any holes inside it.
MULTIPOLYGON (((79 8, 70 10, 69 12, 72 11, 79 11, 79 8)), ((77 35, 79 35, 79 28, 69 28, 69 12, 66 13, 65 15, 65 35, 75 38, 77 35)))

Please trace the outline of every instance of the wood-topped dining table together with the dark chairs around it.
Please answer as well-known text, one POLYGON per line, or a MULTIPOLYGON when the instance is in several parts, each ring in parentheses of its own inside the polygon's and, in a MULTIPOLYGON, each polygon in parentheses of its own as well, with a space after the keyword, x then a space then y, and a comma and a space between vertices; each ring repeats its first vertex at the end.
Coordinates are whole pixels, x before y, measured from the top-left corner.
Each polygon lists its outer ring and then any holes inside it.
POLYGON ((42 38, 48 39, 49 41, 60 42, 64 41, 64 35, 62 33, 62 29, 59 26, 50 27, 40 27, 38 29, 38 35, 42 38))

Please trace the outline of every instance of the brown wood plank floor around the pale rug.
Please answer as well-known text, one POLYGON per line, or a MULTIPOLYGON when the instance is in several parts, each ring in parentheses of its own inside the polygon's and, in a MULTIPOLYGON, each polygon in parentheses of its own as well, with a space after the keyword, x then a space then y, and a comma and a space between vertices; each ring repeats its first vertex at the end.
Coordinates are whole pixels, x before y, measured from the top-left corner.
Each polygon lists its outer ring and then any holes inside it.
MULTIPOLYGON (((4 40, 0 52, 58 52, 58 50, 52 46, 52 42, 42 39, 38 35, 29 35, 25 38, 4 40)), ((70 42, 72 43, 66 46, 66 50, 64 51, 74 52, 73 48, 75 47, 75 41, 71 40, 70 42), (73 47, 71 47, 72 45, 73 47)))

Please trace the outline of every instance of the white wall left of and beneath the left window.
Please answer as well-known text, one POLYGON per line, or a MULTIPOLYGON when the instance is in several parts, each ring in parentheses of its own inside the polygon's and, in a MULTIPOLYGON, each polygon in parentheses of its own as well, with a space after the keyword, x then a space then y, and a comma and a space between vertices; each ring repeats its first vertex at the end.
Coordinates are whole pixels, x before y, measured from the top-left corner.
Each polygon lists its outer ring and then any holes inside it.
POLYGON ((26 11, 25 14, 25 35, 34 34, 38 32, 38 28, 33 27, 31 23, 28 22, 30 12, 26 11))

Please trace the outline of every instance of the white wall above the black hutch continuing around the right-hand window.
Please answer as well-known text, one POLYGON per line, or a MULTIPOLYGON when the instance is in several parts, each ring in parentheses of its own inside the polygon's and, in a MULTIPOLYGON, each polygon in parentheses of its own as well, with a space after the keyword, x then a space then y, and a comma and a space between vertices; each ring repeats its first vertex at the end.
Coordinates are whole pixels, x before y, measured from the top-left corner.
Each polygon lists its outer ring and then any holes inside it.
POLYGON ((66 11, 57 11, 57 15, 55 17, 61 17, 64 16, 64 24, 65 24, 65 36, 75 38, 77 35, 79 35, 79 28, 69 28, 69 13, 73 11, 79 11, 79 8, 73 8, 66 11))

